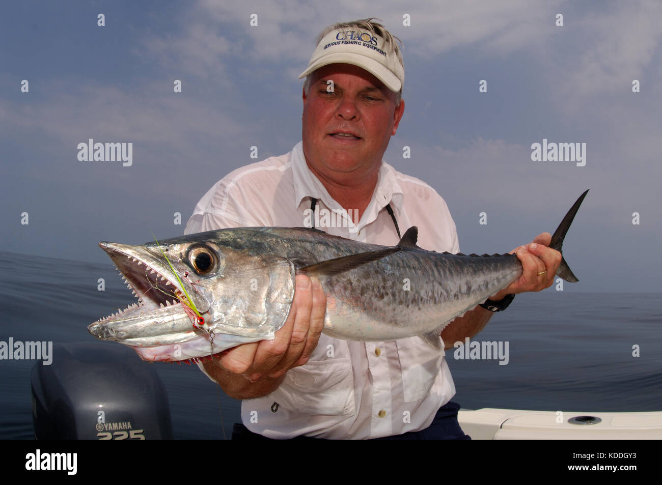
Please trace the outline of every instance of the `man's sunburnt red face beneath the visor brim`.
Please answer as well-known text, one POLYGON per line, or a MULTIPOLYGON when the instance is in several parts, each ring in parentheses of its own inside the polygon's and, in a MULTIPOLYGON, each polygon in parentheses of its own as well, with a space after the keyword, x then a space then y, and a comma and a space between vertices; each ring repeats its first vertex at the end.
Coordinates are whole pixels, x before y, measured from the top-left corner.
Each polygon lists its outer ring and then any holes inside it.
POLYGON ((342 183, 377 171, 404 112, 395 93, 352 64, 329 64, 303 93, 303 152, 310 169, 342 183), (328 92, 333 81, 333 92, 328 92))

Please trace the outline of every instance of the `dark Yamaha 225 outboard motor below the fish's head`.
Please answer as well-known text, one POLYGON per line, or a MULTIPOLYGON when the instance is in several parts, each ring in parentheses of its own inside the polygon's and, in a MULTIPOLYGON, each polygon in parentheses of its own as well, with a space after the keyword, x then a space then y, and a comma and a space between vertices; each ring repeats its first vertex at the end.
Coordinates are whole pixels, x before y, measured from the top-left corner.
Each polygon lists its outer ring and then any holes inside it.
POLYGON ((173 439, 166 388, 124 345, 56 343, 32 367, 36 439, 173 439))

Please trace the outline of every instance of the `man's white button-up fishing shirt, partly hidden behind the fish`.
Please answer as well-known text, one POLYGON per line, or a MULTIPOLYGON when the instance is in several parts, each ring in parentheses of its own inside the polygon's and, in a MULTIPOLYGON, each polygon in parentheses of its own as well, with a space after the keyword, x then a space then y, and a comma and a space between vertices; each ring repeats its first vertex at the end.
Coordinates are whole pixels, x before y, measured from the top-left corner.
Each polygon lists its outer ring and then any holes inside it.
MULTIPOLYGON (((322 224, 316 228, 329 234, 397 244, 395 225, 385 210, 390 203, 402 234, 418 226, 420 247, 459 252, 444 199, 384 161, 358 224, 344 213, 344 218, 326 219, 334 227, 323 226, 322 210, 344 211, 308 169, 301 142, 289 154, 247 165, 218 181, 195 206, 185 234, 242 226, 303 227, 311 219, 312 198, 318 199, 322 224)), ((242 421, 270 438, 377 438, 425 429, 453 394, 444 351, 420 337, 355 342, 322 333, 308 363, 290 369, 277 390, 242 402, 242 421)))

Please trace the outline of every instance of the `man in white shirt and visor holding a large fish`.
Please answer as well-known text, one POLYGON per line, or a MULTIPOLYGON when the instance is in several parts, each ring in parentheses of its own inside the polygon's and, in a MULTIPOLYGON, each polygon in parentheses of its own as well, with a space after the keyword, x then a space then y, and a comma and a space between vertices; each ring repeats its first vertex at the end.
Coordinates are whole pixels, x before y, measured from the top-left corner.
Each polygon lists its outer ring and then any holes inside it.
MULTIPOLYGON (((420 247, 458 252, 444 200, 382 161, 404 112, 404 64, 388 30, 372 19, 327 27, 304 76, 302 142, 287 155, 242 167, 216 183, 197 204, 186 233, 303 226, 306 210, 344 209, 348 218, 355 214, 347 227, 321 229, 395 245, 399 228, 415 225, 420 247)), ((541 234, 517 249, 524 272, 491 298, 493 310, 512 299, 506 295, 551 285, 561 256, 546 247, 550 239, 541 234)), ((293 309, 273 341, 240 345, 204 364, 229 396, 244 399, 242 420, 252 433, 465 438, 457 425, 459 406, 449 402, 455 388, 442 353, 420 337, 328 337, 320 333, 325 309, 320 282, 297 276, 293 309)), ((477 307, 446 326, 446 348, 475 335, 492 313, 477 307)))

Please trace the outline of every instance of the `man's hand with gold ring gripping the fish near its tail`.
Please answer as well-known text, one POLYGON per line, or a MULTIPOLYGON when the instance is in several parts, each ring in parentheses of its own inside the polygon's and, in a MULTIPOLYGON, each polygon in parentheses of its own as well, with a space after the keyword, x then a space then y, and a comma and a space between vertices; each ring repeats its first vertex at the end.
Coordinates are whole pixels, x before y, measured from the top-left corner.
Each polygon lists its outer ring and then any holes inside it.
POLYGON ((517 253, 522 262, 522 276, 510 283, 490 300, 500 300, 506 294, 524 293, 526 291, 540 291, 551 287, 554 283, 556 271, 561 264, 561 253, 551 249, 551 234, 544 232, 533 240, 533 242, 516 247, 509 254, 517 253), (540 275, 539 273, 544 273, 540 275))

